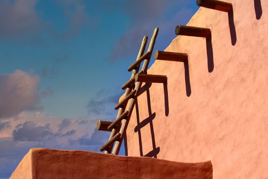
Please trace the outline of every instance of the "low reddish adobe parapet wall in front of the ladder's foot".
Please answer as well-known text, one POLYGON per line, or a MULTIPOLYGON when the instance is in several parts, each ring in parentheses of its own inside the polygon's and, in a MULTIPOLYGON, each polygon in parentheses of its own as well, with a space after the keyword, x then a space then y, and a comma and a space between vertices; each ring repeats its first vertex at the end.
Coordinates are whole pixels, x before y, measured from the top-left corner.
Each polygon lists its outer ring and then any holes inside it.
POLYGON ((212 165, 118 156, 78 150, 34 148, 11 179, 25 178, 196 178, 211 179, 212 165))

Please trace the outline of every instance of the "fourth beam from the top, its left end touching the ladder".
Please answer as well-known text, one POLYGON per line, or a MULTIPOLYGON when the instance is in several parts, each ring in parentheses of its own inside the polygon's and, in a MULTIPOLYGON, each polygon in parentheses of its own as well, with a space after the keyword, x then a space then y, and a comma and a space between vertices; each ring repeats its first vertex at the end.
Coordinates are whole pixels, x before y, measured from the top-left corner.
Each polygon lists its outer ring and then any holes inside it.
POLYGON ((135 75, 135 81, 151 82, 151 83, 165 83, 167 81, 167 77, 165 75, 137 74, 135 75))

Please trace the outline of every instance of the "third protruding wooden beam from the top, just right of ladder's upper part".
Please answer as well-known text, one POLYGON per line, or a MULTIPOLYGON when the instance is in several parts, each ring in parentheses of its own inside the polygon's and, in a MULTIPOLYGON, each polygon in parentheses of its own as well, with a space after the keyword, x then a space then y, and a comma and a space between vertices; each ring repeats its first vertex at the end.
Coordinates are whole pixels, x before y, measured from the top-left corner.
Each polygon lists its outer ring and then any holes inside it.
POLYGON ((188 59, 186 53, 176 53, 176 52, 163 52, 156 51, 154 55, 156 60, 167 60, 167 61, 180 61, 184 62, 188 59))

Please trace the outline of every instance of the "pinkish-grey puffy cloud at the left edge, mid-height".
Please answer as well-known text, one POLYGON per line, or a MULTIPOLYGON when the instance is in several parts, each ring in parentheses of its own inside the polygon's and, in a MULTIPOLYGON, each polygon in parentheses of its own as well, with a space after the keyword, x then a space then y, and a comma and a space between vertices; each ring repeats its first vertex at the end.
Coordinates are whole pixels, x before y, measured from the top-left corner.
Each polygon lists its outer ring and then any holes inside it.
POLYGON ((38 76, 20 70, 0 75, 0 119, 36 109, 39 81, 38 76))

